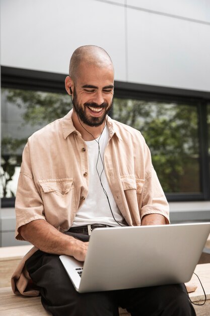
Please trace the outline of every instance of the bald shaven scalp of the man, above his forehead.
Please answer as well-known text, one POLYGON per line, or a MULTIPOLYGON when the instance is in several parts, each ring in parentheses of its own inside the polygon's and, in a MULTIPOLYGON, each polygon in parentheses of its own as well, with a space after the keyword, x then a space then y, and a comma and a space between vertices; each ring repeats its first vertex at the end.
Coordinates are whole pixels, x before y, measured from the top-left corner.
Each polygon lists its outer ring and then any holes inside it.
POLYGON ((106 50, 95 45, 78 47, 72 55, 69 64, 69 76, 76 82, 81 64, 93 65, 96 67, 109 67, 113 69, 113 64, 106 50))

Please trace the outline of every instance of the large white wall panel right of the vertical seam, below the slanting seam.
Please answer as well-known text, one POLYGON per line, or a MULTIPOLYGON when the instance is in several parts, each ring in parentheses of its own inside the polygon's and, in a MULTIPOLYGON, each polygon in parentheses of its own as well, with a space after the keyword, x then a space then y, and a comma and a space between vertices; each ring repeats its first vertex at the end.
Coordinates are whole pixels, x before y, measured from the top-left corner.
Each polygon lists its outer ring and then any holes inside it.
POLYGON ((210 90, 210 26, 128 9, 128 81, 210 90))

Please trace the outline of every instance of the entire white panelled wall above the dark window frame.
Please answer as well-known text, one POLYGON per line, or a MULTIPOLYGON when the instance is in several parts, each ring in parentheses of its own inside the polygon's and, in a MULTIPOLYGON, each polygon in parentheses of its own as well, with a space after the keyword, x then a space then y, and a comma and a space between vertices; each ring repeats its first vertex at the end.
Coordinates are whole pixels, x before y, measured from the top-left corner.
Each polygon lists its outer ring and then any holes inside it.
POLYGON ((4 66, 66 74, 96 44, 116 80, 210 91, 209 38, 209 0, 1 0, 4 66))

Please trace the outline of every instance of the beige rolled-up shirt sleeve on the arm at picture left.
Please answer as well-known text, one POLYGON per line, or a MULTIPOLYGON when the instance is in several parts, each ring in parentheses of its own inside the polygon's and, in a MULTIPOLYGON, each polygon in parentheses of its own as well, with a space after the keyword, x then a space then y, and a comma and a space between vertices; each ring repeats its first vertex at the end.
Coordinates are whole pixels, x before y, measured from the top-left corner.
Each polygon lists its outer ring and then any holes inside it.
POLYGON ((29 143, 26 144, 23 151, 23 162, 21 165, 21 171, 18 180, 15 209, 15 237, 16 239, 24 240, 19 230, 21 226, 28 224, 34 220, 45 220, 43 201, 33 178, 29 143))

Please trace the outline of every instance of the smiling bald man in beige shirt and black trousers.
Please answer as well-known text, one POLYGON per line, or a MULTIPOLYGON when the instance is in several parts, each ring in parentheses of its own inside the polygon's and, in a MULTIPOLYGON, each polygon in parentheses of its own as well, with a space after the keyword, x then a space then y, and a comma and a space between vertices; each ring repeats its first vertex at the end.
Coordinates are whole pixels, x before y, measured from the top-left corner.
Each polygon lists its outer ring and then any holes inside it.
POLYGON ((80 294, 67 277, 59 255, 84 261, 95 227, 168 224, 169 210, 143 136, 107 116, 114 92, 107 52, 77 48, 65 88, 73 111, 33 134, 23 152, 16 238, 39 249, 23 274, 53 315, 111 316, 118 306, 132 315, 195 315, 183 285, 80 294))

